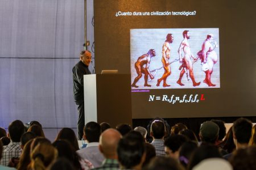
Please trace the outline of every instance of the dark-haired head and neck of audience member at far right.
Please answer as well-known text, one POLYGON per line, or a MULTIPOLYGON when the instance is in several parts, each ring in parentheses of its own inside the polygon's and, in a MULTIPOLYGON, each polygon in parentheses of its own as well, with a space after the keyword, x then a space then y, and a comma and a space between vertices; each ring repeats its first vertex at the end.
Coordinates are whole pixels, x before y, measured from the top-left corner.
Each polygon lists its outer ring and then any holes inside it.
MULTIPOLYGON (((249 145, 251 138, 251 130, 253 124, 251 121, 246 118, 238 118, 238 120, 233 123, 233 140, 236 145, 236 149, 244 148, 249 145)), ((228 160, 232 156, 233 152, 227 155, 224 155, 224 158, 228 160)))

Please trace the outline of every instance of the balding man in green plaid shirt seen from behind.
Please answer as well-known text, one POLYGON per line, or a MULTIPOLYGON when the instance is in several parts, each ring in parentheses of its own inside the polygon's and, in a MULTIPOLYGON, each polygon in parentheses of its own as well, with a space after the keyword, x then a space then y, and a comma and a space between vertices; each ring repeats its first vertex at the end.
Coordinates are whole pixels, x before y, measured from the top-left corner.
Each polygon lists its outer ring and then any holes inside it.
POLYGON ((101 167, 94 169, 119 169, 117 145, 122 135, 115 129, 107 129, 100 136, 99 150, 104 155, 105 160, 101 167))

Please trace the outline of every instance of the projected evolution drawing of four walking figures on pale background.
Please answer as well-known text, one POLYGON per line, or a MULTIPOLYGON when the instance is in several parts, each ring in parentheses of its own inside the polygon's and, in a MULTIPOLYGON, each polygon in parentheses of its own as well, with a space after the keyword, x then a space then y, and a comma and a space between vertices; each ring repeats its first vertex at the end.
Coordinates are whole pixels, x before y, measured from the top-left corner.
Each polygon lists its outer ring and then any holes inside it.
POLYGON ((219 88, 218 28, 130 29, 131 88, 219 88))

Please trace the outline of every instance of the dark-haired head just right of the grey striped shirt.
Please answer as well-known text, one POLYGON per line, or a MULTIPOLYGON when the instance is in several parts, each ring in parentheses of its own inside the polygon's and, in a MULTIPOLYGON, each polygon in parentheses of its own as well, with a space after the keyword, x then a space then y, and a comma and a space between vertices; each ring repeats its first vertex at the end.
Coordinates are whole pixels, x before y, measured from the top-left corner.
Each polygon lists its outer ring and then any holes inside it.
POLYGON ((184 143, 187 142, 188 138, 185 137, 184 135, 171 135, 164 141, 164 146, 170 148, 172 152, 176 152, 179 150, 180 146, 184 143))

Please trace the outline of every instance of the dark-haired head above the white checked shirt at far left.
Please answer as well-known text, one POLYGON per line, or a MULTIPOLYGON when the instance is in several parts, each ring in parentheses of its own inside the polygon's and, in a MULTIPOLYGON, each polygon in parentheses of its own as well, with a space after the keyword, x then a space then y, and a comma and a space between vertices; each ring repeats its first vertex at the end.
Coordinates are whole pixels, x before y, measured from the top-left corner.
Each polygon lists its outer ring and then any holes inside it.
POLYGON ((20 142, 20 138, 25 132, 25 126, 22 121, 15 120, 11 122, 11 124, 9 125, 8 132, 9 132, 11 141, 20 142))

